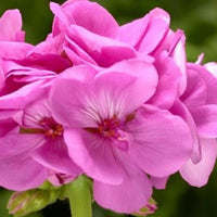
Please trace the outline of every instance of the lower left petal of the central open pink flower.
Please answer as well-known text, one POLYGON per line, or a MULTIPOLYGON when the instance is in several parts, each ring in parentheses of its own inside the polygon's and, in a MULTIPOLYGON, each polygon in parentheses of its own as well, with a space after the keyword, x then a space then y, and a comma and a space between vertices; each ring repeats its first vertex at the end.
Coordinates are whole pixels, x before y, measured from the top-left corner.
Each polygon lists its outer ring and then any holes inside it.
POLYGON ((64 139, 69 156, 89 177, 111 184, 123 181, 124 170, 110 141, 85 130, 69 129, 64 139))

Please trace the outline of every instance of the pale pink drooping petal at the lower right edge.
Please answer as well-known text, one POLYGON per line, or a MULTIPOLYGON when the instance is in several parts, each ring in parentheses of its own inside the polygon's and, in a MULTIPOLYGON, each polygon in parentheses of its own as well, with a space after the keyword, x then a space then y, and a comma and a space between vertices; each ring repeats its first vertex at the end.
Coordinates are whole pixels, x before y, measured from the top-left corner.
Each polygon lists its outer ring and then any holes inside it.
POLYGON ((216 139, 201 139, 201 162, 193 164, 192 161, 189 159, 180 169, 182 178, 194 187, 203 187, 207 183, 217 156, 216 139))

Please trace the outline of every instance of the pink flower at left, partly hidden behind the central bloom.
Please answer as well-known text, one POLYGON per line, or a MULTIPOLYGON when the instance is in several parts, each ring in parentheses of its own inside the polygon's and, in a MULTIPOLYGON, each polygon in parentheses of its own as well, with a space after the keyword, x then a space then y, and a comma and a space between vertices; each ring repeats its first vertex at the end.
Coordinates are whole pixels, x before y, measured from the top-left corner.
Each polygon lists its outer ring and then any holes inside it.
MULTIPOLYGON (((49 170, 54 170, 58 176, 63 174, 72 178, 81 173, 67 154, 64 127, 52 117, 46 100, 48 88, 39 92, 40 95, 30 94, 31 101, 23 110, 10 113, 10 118, 4 119, 8 125, 12 123, 7 128, 7 133, 0 133, 0 186, 4 188, 36 188, 50 176, 49 170), (21 170, 17 170, 18 165, 21 170), (15 170, 16 176, 13 177, 15 170)), ((0 129, 2 131, 2 127, 0 129)))

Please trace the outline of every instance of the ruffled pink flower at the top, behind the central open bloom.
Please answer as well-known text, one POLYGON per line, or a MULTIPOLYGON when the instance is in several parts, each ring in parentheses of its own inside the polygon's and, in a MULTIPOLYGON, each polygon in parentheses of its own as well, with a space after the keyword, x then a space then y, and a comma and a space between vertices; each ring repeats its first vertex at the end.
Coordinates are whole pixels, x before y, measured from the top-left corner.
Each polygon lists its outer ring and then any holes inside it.
POLYGON ((150 103, 168 110, 177 95, 183 93, 186 37, 181 30, 169 29, 169 15, 162 9, 118 26, 105 9, 90 1, 66 1, 62 7, 56 3, 50 7, 55 15, 53 30, 48 40, 36 48, 38 52, 53 52, 54 47, 74 65, 85 63, 95 67, 108 67, 123 60, 141 60, 149 54, 158 74, 156 92, 150 103))

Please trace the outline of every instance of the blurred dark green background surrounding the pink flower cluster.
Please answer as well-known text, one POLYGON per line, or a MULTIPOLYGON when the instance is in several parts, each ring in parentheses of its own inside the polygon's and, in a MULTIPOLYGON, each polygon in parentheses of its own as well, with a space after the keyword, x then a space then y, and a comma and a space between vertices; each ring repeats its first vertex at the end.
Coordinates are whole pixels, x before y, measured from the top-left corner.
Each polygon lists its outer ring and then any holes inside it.
MULTIPOLYGON (((97 1, 97 0, 95 0, 97 1)), ((51 31, 52 13, 49 0, 1 0, 0 14, 8 9, 20 9, 23 15, 26 40, 37 43, 51 31)), ((59 3, 64 2, 55 1, 59 3)), ((205 53, 205 62, 217 62, 217 0, 98 0, 119 24, 143 16, 155 7, 161 7, 171 16, 171 28, 183 29, 187 35, 189 61, 205 53)), ((214 173, 202 189, 188 186, 179 175, 170 178, 167 189, 154 191, 158 210, 152 217, 206 217, 217 216, 217 173, 214 173)), ((9 217, 5 209, 9 191, 0 189, 0 217, 9 217)), ((28 217, 69 217, 67 202, 58 202, 28 217)), ((93 217, 117 217, 94 204, 93 217)), ((123 217, 126 215, 123 215, 123 217)))

